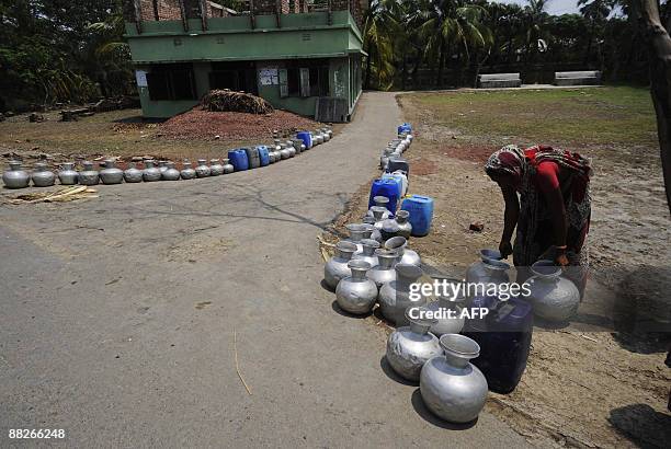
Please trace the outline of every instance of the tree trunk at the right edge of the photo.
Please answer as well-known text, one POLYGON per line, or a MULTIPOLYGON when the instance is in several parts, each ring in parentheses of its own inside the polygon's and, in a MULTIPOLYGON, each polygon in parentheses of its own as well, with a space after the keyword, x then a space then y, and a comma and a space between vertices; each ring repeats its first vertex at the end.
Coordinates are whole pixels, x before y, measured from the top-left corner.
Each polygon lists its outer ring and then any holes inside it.
POLYGON ((657 0, 632 2, 650 53, 650 93, 657 114, 657 135, 671 212, 671 37, 659 18, 657 0))

